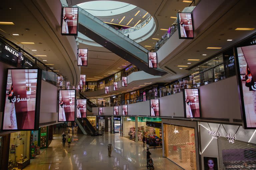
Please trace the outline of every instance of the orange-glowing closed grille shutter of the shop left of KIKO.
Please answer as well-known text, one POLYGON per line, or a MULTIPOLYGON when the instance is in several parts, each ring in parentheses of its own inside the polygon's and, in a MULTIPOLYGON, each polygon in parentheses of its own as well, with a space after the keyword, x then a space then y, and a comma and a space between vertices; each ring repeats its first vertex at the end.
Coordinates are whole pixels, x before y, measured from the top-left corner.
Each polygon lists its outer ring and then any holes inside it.
POLYGON ((186 170, 197 169, 195 129, 164 124, 165 157, 186 170))

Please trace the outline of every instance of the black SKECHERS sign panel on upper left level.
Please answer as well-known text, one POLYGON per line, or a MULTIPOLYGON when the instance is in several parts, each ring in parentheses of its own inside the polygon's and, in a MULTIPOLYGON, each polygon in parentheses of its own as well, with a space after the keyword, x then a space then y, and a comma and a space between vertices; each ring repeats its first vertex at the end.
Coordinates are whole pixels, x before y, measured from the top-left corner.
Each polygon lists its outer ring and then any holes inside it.
POLYGON ((0 46, 0 60, 13 66, 17 66, 19 53, 3 42, 0 42, 0 46))

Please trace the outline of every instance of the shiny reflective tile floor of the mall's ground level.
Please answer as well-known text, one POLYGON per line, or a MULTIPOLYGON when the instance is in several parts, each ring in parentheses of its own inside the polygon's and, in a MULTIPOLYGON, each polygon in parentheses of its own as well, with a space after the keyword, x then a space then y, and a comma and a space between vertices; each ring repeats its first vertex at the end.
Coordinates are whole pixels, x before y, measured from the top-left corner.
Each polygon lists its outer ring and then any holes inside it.
MULTIPOLYGON (((62 147, 61 135, 54 134, 54 140, 41 154, 31 159, 25 170, 135 170, 146 168, 146 147, 120 134, 105 133, 104 136, 71 136, 71 147, 62 147), (114 150, 108 157, 107 145, 114 150)), ((162 157, 162 148, 149 149, 155 169, 180 170, 177 165, 162 157)))

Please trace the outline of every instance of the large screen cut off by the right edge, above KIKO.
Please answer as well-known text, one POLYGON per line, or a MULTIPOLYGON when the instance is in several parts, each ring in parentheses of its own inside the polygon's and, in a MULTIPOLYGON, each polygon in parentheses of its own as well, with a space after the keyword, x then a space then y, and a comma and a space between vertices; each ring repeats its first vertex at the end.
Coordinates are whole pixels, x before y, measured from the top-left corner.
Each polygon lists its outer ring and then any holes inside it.
POLYGON ((237 48, 244 128, 256 128, 256 45, 237 48))

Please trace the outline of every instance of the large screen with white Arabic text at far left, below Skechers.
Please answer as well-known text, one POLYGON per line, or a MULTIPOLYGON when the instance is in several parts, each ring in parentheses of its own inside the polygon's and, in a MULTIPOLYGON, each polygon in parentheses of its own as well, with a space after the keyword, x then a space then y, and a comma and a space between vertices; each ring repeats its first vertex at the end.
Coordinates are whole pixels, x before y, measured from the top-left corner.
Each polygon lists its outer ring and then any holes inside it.
POLYGON ((39 128, 41 69, 7 69, 2 130, 39 128))

